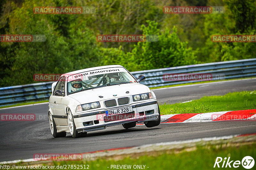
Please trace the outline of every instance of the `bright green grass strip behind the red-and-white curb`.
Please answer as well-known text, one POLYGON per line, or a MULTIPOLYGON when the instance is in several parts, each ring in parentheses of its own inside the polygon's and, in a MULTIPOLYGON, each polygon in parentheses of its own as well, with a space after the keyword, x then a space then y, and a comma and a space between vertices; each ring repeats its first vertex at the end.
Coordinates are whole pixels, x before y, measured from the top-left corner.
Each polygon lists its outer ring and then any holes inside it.
POLYGON ((159 108, 163 115, 256 109, 256 90, 204 96, 188 103, 159 105, 159 108))

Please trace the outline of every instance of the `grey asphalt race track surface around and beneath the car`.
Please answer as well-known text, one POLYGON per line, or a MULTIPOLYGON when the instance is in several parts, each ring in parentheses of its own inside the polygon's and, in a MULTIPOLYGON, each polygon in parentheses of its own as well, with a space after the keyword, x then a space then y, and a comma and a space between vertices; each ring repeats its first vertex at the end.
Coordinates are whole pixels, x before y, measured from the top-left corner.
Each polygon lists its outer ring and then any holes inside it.
MULTIPOLYGON (((256 79, 221 81, 153 90, 159 102, 178 103, 202 96, 256 90, 256 79)), ((47 114, 48 104, 0 110, 0 113, 47 114)), ((256 121, 219 121, 145 125, 124 129, 122 125, 88 132, 85 138, 53 138, 49 121, 1 121, 0 161, 30 159, 35 153, 83 153, 159 142, 256 133, 256 121)))

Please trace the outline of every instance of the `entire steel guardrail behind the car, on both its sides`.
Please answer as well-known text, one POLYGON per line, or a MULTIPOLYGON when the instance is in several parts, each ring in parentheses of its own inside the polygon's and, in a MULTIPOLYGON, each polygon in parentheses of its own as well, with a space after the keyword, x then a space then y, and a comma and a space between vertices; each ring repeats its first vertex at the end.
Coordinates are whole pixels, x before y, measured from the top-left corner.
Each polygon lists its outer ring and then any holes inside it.
MULTIPOLYGON (((141 84, 148 87, 159 87, 198 81, 164 81, 164 74, 212 74, 212 80, 232 79, 256 76, 256 58, 245 60, 223 61, 179 67, 160 68, 131 72, 134 77, 146 75, 141 84), (220 76, 221 75, 221 76, 220 76)), ((52 82, 42 82, 0 88, 0 106, 14 103, 42 101, 49 99, 52 82)))

